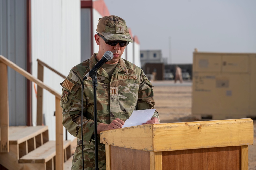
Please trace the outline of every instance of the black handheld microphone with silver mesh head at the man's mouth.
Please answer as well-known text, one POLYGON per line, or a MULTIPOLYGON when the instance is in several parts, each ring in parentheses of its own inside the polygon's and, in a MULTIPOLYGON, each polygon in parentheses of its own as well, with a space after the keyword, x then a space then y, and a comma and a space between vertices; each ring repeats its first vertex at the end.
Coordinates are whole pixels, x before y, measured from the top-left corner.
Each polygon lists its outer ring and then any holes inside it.
POLYGON ((94 75, 94 74, 97 72, 97 70, 98 70, 103 64, 105 64, 105 63, 108 62, 109 60, 112 60, 113 57, 114 57, 114 54, 113 54, 111 51, 106 51, 106 52, 104 53, 104 55, 102 56, 102 58, 100 59, 100 61, 97 62, 97 63, 95 64, 95 66, 84 76, 83 80, 87 79, 88 76, 91 77, 92 75, 94 75))

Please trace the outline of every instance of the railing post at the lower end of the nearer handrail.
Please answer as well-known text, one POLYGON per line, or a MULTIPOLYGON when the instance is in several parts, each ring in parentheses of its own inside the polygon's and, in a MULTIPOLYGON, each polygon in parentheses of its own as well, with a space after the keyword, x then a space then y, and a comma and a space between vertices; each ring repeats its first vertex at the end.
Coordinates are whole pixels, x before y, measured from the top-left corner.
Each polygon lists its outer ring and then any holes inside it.
POLYGON ((56 170, 64 169, 64 146, 63 146, 63 125, 62 108, 60 98, 55 97, 55 122, 56 122, 56 170))

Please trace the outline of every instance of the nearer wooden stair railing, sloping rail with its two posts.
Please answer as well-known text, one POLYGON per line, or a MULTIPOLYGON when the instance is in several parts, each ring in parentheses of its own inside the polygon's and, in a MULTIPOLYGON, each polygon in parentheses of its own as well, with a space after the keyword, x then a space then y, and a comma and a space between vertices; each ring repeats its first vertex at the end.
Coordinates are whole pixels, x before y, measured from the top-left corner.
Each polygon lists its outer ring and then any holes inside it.
MULTIPOLYGON (((24 69, 20 68, 17 66, 15 63, 12 61, 8 60, 4 56, 0 55, 0 66, 1 66, 1 71, 3 71, 4 79, 2 83, 0 83, 0 89, 2 91, 6 91, 6 93, 0 94, 2 97, 0 97, 2 100, 5 100, 0 105, 2 106, 1 108, 7 108, 1 111, 1 118, 5 117, 5 119, 0 120, 0 130, 1 130, 1 138, 3 137, 3 140, 1 139, 1 150, 0 152, 9 152, 9 138, 8 138, 8 133, 9 133, 9 121, 6 122, 6 119, 9 117, 9 104, 8 104, 8 80, 7 80, 7 66, 12 68, 13 70, 17 71, 27 79, 29 79, 32 82, 35 82, 39 87, 46 89, 53 95, 55 95, 55 128, 56 128, 56 157, 55 157, 55 163, 56 163, 56 170, 63 170, 64 169, 64 151, 63 151, 63 126, 62 126, 62 108, 60 107, 60 99, 61 99, 61 94, 59 94, 57 91, 54 89, 48 87, 46 84, 44 84, 41 80, 35 78, 32 76, 30 73, 25 71, 24 69), (5 65, 2 67, 2 65, 5 65), (3 88, 3 89, 2 89, 3 88), (3 128, 2 128, 3 127, 3 128), (7 136, 7 137, 6 137, 7 136), (3 143, 4 142, 4 143, 3 143)), ((0 91, 1 92, 1 91, 0 91)), ((0 101, 2 101, 0 100, 0 101)))

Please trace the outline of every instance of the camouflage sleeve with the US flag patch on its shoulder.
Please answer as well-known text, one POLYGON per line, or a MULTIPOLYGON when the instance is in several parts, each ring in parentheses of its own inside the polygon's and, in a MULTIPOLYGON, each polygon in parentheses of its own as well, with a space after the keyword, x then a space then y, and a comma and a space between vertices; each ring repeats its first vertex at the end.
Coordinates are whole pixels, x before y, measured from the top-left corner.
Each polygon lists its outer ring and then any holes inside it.
MULTIPOLYGON (((61 83, 62 97, 60 105, 63 108, 62 124, 68 132, 81 139, 81 85, 73 81, 69 76, 61 83)), ((85 96, 83 95, 83 101, 85 96)), ((86 103, 83 103, 83 111, 86 111, 86 103)), ((90 143, 94 134, 94 121, 83 116, 83 140, 90 143)))

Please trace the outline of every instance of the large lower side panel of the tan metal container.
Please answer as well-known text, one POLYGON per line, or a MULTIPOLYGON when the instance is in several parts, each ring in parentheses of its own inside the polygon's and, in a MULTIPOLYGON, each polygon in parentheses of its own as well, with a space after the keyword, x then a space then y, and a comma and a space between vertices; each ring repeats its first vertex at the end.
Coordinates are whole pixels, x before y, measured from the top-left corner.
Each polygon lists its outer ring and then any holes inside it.
POLYGON ((245 118, 249 115, 249 82, 249 74, 199 72, 193 78, 193 114, 212 115, 213 119, 216 115, 223 119, 245 118), (198 79, 200 82, 196 82, 198 79), (220 87, 218 80, 229 83, 220 87))

